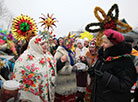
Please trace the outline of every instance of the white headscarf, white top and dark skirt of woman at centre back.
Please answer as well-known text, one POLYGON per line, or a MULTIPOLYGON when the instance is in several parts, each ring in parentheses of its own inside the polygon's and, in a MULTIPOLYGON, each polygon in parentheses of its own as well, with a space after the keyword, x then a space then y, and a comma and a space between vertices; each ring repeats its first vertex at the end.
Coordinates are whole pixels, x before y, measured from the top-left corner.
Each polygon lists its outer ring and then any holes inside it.
MULTIPOLYGON (((81 63, 87 64, 86 53, 88 52, 88 48, 86 48, 84 46, 84 40, 83 39, 78 39, 77 45, 78 45, 78 43, 81 44, 82 48, 77 47, 75 50, 76 63, 81 62, 81 63), (85 61, 82 61, 81 57, 85 57, 85 61)), ((77 77, 77 102, 83 102, 84 94, 85 94, 86 86, 87 86, 87 72, 81 71, 81 70, 77 71, 76 77, 77 77)))

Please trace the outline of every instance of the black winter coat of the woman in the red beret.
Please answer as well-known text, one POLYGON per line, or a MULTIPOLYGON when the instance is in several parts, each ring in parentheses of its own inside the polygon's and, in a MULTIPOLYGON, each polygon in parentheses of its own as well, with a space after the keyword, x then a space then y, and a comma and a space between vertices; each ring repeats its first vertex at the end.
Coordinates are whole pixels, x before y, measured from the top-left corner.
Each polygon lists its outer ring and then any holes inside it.
POLYGON ((128 44, 121 43, 104 52, 103 48, 99 50, 99 59, 94 68, 102 71, 103 76, 94 77, 92 102, 130 102, 130 89, 137 78, 131 57, 120 57, 112 61, 103 59, 130 54, 131 49, 128 44))

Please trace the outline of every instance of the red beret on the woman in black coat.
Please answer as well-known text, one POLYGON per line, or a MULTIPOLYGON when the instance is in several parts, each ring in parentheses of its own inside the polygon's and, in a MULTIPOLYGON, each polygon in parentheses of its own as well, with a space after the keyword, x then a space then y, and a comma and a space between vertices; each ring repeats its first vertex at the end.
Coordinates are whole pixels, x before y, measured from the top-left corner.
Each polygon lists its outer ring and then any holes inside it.
POLYGON ((107 29, 104 31, 104 34, 113 44, 118 44, 124 41, 124 36, 115 30, 107 29))

